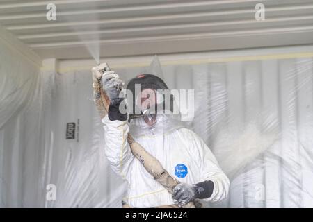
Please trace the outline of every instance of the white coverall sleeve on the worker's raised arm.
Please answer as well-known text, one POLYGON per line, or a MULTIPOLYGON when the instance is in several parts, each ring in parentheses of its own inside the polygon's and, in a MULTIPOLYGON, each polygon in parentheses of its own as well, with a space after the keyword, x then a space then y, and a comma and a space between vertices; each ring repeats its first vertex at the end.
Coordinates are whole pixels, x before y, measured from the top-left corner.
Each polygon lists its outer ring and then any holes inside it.
POLYGON ((111 121, 106 115, 104 123, 104 148, 113 171, 125 178, 129 164, 134 159, 127 142, 129 126, 127 121, 111 121))

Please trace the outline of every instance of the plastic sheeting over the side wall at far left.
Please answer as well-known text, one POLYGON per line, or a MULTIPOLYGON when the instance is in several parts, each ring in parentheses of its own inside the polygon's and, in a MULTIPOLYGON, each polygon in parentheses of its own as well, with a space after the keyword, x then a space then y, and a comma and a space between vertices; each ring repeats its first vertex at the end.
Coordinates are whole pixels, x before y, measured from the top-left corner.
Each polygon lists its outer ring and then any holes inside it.
POLYGON ((0 44, 0 61, 0 207, 37 205, 43 159, 40 69, 6 44, 0 44))

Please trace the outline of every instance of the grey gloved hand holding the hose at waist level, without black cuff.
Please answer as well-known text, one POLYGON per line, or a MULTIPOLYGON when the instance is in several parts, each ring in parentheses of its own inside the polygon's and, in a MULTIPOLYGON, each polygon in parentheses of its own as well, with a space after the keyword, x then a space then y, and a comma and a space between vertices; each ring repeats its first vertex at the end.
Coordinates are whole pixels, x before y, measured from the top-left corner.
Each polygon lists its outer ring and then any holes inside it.
POLYGON ((186 205, 189 202, 192 202, 196 198, 196 189, 195 185, 188 185, 187 183, 179 183, 172 190, 172 198, 174 203, 179 207, 186 205))

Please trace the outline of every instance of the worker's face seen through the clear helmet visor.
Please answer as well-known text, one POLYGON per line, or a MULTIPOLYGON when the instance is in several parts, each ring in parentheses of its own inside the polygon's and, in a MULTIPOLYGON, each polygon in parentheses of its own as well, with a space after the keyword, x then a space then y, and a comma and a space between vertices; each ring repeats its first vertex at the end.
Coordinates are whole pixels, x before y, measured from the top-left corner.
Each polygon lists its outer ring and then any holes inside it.
POLYGON ((145 113, 145 111, 150 110, 150 113, 154 114, 154 117, 143 117, 145 123, 149 126, 152 126, 156 122, 155 117, 157 110, 154 109, 156 103, 157 93, 154 89, 143 89, 143 91, 141 91, 141 95, 136 98, 136 104, 141 107, 141 112, 145 113))

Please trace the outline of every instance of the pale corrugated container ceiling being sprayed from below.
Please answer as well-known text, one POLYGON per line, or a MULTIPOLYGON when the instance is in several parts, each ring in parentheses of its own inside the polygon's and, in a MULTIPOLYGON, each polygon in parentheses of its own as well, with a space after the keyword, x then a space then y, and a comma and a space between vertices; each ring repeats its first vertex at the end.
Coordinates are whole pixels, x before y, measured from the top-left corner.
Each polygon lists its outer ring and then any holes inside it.
POLYGON ((313 0, 0 0, 0 24, 42 58, 293 46, 313 44, 313 0))

